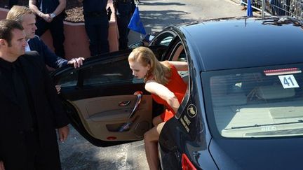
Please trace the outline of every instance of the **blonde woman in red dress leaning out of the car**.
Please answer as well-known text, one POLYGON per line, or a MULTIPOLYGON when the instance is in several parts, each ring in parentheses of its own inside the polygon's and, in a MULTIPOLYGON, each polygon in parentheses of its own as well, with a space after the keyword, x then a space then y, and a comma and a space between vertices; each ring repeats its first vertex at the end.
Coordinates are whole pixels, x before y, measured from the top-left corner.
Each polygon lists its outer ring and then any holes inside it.
POLYGON ((188 65, 187 62, 159 62, 152 50, 146 47, 135 48, 128 56, 128 63, 135 77, 144 78, 145 90, 152 94, 152 98, 166 106, 166 111, 153 119, 154 127, 144 134, 149 169, 158 169, 159 134, 166 121, 177 112, 187 91, 187 83, 177 71, 188 70, 188 65))

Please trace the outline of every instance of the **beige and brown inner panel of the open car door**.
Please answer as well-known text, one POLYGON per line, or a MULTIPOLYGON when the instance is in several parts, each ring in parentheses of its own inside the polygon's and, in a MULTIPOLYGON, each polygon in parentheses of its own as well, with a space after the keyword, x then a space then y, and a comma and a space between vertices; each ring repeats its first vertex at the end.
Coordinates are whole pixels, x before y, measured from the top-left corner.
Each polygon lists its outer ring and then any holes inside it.
POLYGON ((151 127, 151 95, 144 95, 140 108, 132 118, 128 118, 135 107, 136 99, 135 95, 121 95, 69 102, 78 111, 83 126, 91 136, 102 141, 109 141, 110 136, 115 136, 117 141, 128 141, 142 139, 144 132, 151 127), (119 106, 121 101, 130 101, 130 104, 119 106), (121 132, 121 127, 128 122, 131 122, 129 129, 121 132))

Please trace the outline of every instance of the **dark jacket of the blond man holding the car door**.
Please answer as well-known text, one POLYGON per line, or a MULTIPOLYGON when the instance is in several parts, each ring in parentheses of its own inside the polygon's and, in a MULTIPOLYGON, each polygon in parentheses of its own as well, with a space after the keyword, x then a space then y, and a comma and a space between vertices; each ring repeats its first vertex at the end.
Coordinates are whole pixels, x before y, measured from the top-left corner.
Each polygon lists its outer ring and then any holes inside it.
POLYGON ((28 41, 28 44, 31 50, 39 53, 46 65, 57 69, 67 64, 67 60, 55 55, 55 53, 51 51, 45 43, 43 43, 39 36, 34 36, 34 38, 28 41))

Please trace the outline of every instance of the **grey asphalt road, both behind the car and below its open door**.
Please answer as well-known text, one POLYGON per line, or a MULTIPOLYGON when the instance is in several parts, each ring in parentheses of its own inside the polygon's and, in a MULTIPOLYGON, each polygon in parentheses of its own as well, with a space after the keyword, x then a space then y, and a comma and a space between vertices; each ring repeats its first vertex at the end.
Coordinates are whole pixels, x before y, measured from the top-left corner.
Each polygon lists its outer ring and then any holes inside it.
MULTIPOLYGON (((139 9, 147 33, 170 24, 245 15, 229 0, 141 0, 139 9)), ((130 31, 129 39, 130 44, 137 42, 140 34, 130 31)), ((98 148, 70 129, 67 141, 59 144, 62 169, 148 169, 142 141, 98 148)))

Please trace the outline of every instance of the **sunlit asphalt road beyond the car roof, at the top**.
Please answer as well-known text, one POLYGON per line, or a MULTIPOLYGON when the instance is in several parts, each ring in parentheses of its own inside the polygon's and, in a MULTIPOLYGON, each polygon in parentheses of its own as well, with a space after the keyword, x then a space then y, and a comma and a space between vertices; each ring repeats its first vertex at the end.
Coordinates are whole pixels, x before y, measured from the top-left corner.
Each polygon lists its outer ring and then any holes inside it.
MULTIPOLYGON (((193 22, 218 17, 240 17, 246 15, 238 0, 141 0, 140 17, 147 31, 161 31, 170 24, 193 22)), ((131 43, 140 39, 140 34, 130 31, 131 43)))

